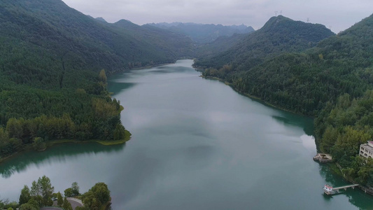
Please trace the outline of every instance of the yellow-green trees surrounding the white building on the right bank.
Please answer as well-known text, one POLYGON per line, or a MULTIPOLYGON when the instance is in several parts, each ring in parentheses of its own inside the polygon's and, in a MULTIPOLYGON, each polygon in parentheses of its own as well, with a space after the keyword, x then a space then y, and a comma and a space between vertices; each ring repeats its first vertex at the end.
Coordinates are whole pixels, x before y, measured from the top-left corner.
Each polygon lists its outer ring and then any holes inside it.
POLYGON ((331 153, 350 179, 373 186, 373 160, 356 157, 360 144, 373 137, 373 90, 358 99, 340 96, 334 107, 315 119, 315 133, 322 151, 331 153))

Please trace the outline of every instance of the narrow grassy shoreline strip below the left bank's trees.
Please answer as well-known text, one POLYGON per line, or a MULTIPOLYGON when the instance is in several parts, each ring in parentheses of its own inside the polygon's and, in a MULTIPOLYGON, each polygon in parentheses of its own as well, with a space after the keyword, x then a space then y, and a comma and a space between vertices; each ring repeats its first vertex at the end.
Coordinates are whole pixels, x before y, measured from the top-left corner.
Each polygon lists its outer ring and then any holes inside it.
POLYGON ((45 148, 42 150, 34 150, 32 147, 32 144, 27 144, 22 148, 20 151, 17 151, 16 153, 13 153, 12 155, 9 155, 5 158, 0 158, 0 164, 3 162, 6 162, 7 160, 10 160, 13 158, 15 155, 18 155, 20 153, 26 152, 26 151, 36 151, 42 153, 43 151, 48 150, 49 147, 54 146, 56 144, 66 144, 66 143, 73 143, 73 144, 85 144, 85 143, 96 143, 96 144, 101 144, 103 146, 114 146, 114 145, 120 145, 120 144, 125 144, 127 141, 129 141, 132 137, 131 132, 128 130, 125 130, 125 139, 122 140, 116 140, 116 141, 104 141, 104 140, 99 140, 99 139, 91 139, 91 140, 85 140, 81 141, 78 139, 59 139, 59 140, 52 140, 45 142, 45 148))

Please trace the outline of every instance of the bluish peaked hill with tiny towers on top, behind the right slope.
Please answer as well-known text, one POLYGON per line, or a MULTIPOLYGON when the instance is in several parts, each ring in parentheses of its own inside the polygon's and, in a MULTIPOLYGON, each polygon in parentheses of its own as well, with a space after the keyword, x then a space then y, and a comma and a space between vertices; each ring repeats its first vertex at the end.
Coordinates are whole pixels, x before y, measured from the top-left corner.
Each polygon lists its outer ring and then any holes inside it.
POLYGON ((248 71, 266 59, 283 52, 301 52, 334 35, 323 25, 290 20, 279 15, 270 18, 258 31, 243 36, 229 50, 213 57, 199 57, 195 66, 220 69, 225 64, 234 71, 248 71))

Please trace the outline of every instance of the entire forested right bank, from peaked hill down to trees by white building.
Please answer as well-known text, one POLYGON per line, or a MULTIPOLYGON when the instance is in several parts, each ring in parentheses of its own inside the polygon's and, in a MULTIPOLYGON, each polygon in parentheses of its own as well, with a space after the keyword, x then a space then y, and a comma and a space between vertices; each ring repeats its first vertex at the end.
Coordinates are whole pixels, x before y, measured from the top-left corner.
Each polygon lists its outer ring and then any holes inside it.
POLYGON ((358 157, 373 134, 373 15, 335 36, 321 25, 300 25, 271 18, 245 41, 195 66, 239 92, 314 116, 321 151, 332 154, 347 178, 373 186, 372 161, 358 157), (262 31, 272 36, 260 41, 255 36, 262 31))

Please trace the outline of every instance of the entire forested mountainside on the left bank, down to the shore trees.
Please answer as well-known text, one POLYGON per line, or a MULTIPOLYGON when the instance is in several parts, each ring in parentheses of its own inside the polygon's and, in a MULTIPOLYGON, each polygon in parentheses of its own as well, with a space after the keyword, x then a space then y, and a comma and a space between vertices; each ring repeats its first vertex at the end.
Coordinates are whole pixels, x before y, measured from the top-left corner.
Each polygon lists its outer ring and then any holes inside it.
POLYGON ((52 139, 123 139, 106 73, 194 53, 180 34, 109 24, 60 0, 0 1, 0 28, 0 158, 52 139))

